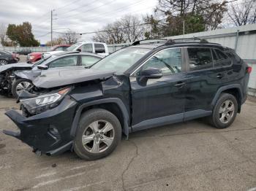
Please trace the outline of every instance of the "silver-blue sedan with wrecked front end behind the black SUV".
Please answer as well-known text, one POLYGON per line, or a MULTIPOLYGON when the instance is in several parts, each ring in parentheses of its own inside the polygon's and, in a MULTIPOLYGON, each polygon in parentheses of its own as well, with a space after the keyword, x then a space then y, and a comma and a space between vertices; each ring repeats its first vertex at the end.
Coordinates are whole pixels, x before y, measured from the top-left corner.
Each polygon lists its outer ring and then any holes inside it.
POLYGON ((102 55, 87 52, 60 52, 33 64, 15 63, 0 66, 0 91, 18 98, 20 91, 32 87, 31 81, 39 75, 64 68, 83 69, 102 58, 102 55))

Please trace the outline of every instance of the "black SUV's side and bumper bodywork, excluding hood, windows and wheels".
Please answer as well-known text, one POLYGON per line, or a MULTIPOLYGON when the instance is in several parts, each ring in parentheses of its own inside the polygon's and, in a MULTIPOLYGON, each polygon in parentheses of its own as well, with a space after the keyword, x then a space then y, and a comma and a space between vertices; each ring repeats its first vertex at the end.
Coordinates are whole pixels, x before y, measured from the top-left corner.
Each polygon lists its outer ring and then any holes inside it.
MULTIPOLYGON (((43 153, 53 154, 72 147, 80 114, 84 109, 94 106, 104 108, 108 104, 114 105, 118 110, 116 113, 123 133, 128 136, 136 130, 207 116, 211 114, 219 95, 225 90, 237 90, 239 106, 244 103, 249 74, 245 72, 246 64, 243 61, 237 63, 233 60, 230 66, 189 71, 186 67, 188 61, 184 58, 186 64, 182 66, 181 73, 173 76, 141 82, 141 77, 131 75, 148 57, 160 50, 173 47, 181 47, 183 52, 186 52, 187 47, 216 47, 224 50, 220 45, 149 46, 154 49, 124 74, 108 74, 107 78, 85 78, 83 82, 74 81, 72 90, 56 108, 31 117, 23 117, 15 111, 7 112, 7 116, 20 128, 20 134, 7 131, 5 133, 43 153), (219 72, 225 74, 223 79, 217 79, 216 74, 219 72), (184 84, 179 85, 181 83, 184 84), (51 127, 56 128, 59 133, 51 134, 51 127)), ((64 85, 67 83, 61 84, 64 85)))

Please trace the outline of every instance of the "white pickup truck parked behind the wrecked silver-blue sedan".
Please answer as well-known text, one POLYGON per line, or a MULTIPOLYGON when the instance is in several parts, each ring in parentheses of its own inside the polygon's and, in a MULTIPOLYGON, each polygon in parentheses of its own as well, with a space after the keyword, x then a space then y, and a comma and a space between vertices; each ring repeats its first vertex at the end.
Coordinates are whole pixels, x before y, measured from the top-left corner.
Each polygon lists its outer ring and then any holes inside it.
POLYGON ((81 52, 91 52, 96 53, 98 55, 109 55, 108 46, 102 42, 78 42, 73 44, 72 46, 68 47, 66 50, 57 50, 57 51, 50 51, 45 52, 42 54, 43 58, 47 58, 49 55, 55 55, 59 52, 64 51, 81 51, 81 52))

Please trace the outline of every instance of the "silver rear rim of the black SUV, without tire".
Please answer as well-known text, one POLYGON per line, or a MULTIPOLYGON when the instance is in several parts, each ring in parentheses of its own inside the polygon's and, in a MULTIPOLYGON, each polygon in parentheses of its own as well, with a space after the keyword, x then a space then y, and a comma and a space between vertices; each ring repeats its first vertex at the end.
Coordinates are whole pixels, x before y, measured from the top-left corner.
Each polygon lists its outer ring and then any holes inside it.
POLYGON ((227 99, 219 108, 219 120, 222 123, 230 122, 235 112, 235 105, 233 101, 227 99))

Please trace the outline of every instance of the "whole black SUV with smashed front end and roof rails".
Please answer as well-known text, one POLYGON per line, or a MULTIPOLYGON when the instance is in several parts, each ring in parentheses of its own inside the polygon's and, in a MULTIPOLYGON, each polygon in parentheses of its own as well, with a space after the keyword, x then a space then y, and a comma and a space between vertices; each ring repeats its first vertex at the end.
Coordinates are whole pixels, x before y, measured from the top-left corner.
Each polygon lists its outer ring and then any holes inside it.
POLYGON ((109 155, 129 133, 198 117, 227 128, 241 111, 251 68, 236 53, 203 39, 135 42, 89 69, 34 79, 20 95, 23 114, 4 130, 34 152, 68 149, 87 160, 109 155))

